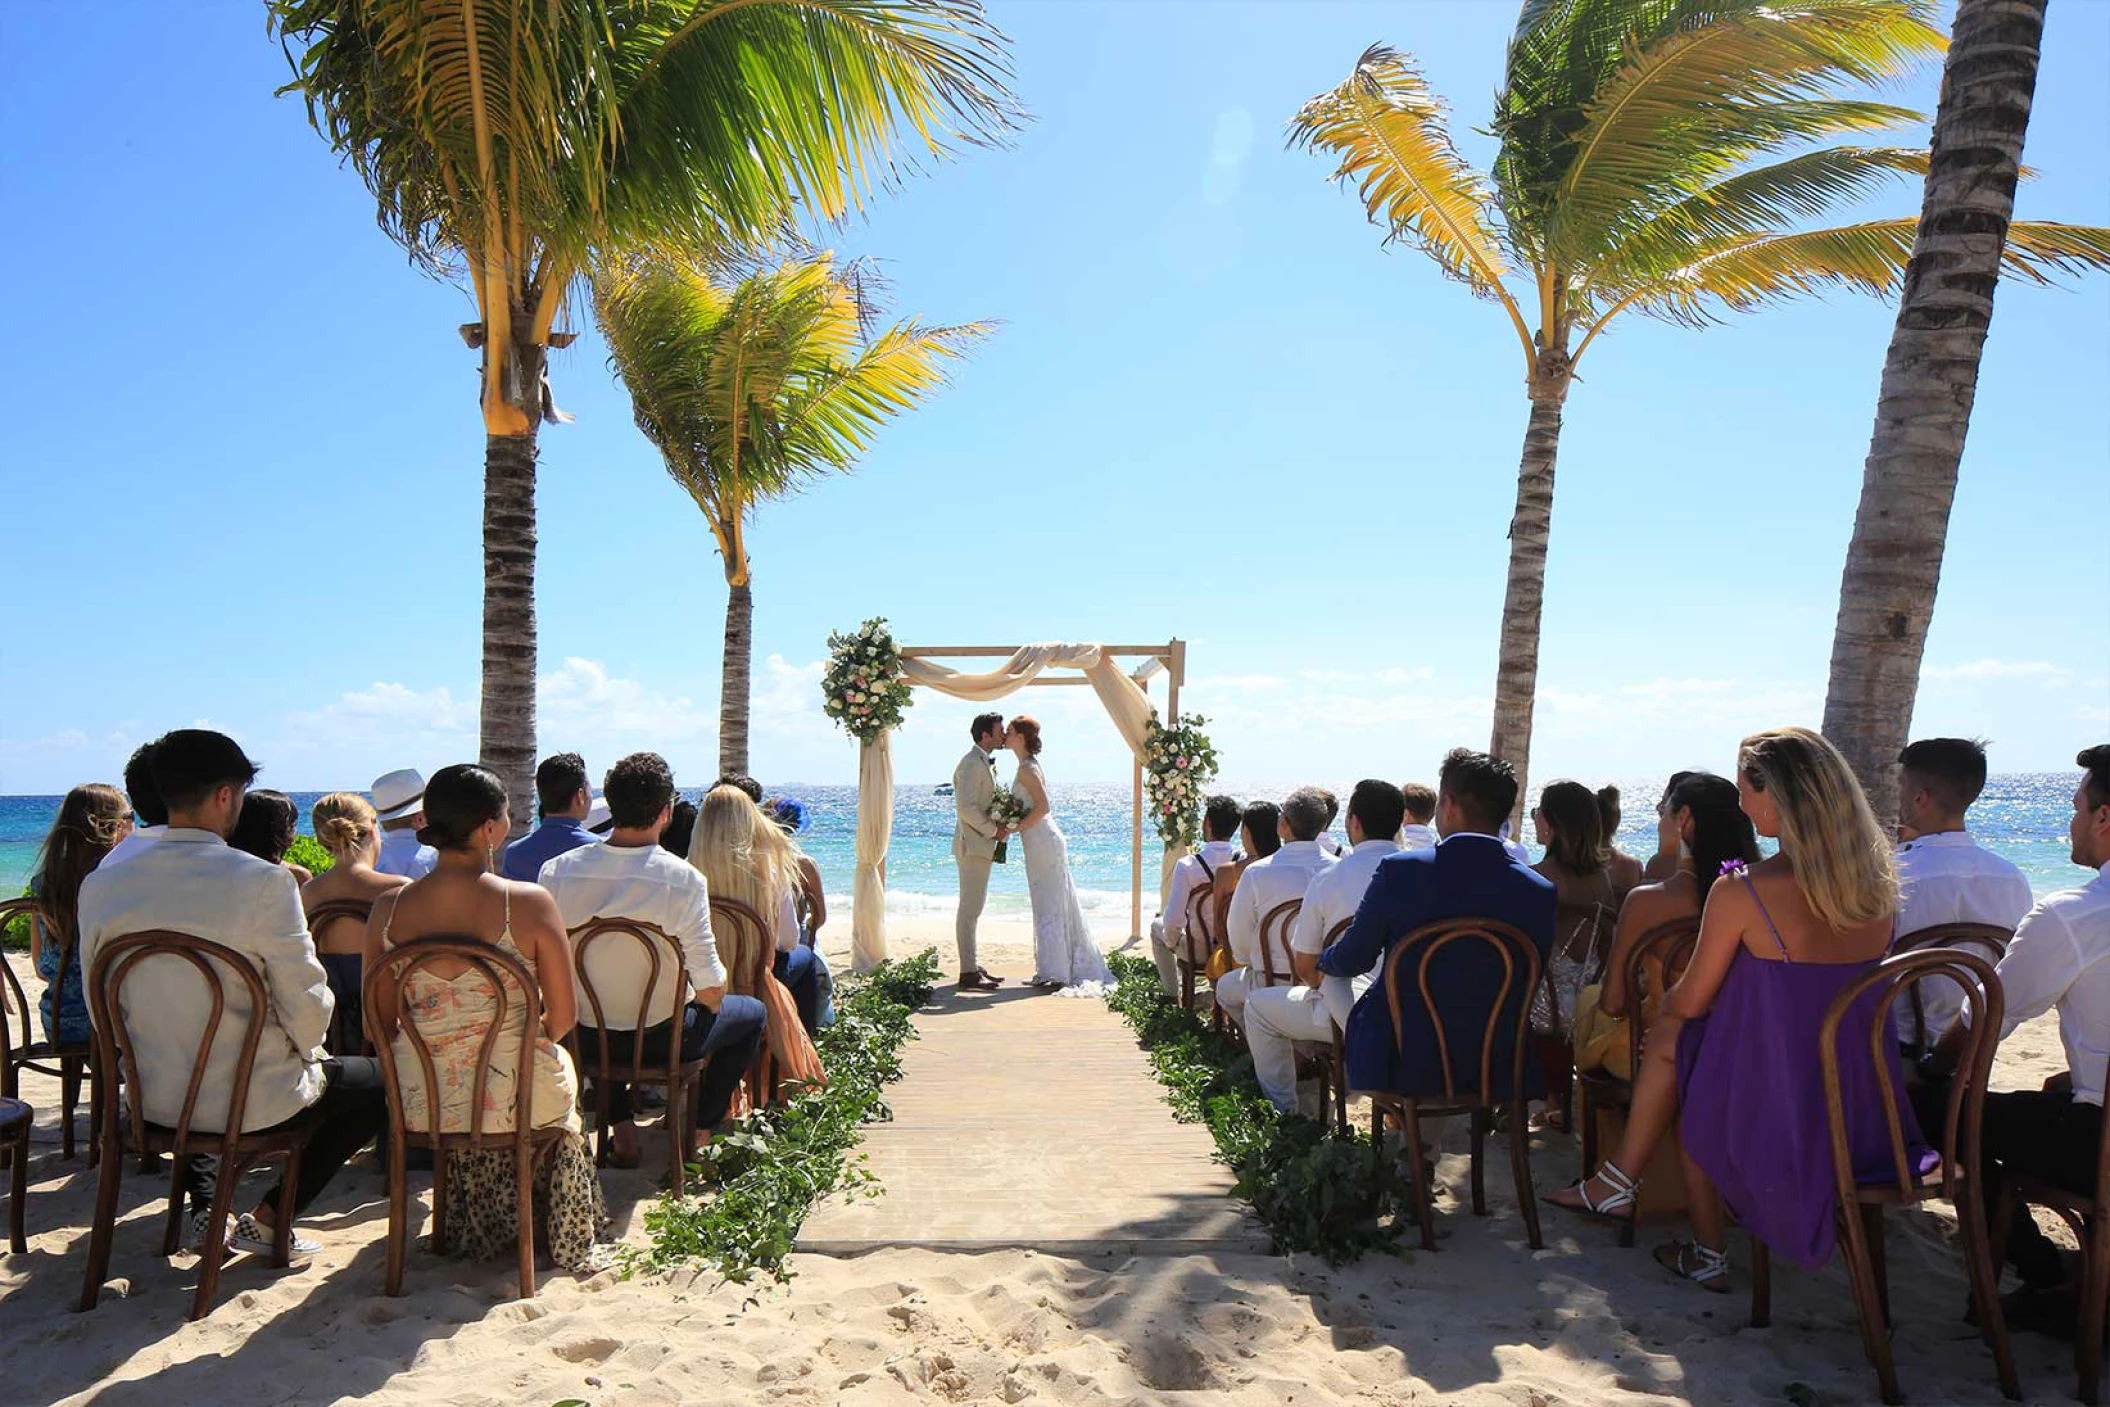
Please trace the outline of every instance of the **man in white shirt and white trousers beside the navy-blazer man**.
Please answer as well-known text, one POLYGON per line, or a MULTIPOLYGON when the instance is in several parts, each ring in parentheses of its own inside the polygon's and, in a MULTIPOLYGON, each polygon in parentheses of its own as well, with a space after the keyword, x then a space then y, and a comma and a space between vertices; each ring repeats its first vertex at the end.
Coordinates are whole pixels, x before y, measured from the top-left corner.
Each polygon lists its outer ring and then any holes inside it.
POLYGON ((1289 962, 1296 985, 1260 987, 1245 998, 1245 1042, 1253 1051, 1253 1078, 1260 1093, 1283 1114, 1298 1107, 1296 1042, 1334 1042, 1336 1029, 1348 1029, 1348 1013, 1369 991, 1378 970, 1353 979, 1319 972, 1319 953, 1336 924, 1355 918, 1378 863, 1399 854, 1399 835, 1407 802, 1399 787, 1363 780, 1348 793, 1348 854, 1319 869, 1304 890, 1304 907, 1289 934, 1289 962))

